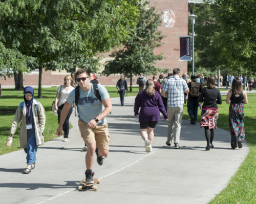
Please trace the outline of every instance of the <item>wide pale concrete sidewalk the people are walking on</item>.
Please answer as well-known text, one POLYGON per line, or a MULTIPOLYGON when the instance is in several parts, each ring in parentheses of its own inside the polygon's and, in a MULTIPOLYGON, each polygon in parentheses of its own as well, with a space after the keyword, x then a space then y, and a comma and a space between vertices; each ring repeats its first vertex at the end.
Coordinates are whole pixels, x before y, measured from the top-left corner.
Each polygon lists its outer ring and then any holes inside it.
POLYGON ((242 149, 232 150, 229 131, 217 128, 215 148, 205 151, 204 130, 183 120, 181 149, 169 148, 167 122, 162 118, 155 129, 153 152, 146 153, 133 113, 134 99, 126 97, 124 106, 119 98, 111 99, 110 153, 103 166, 95 160, 93 167, 101 179, 97 192, 77 191, 86 152, 73 113, 70 141, 57 138, 39 147, 32 173, 22 174, 23 150, 0 156, 1 203, 207 203, 226 187, 249 151, 246 142, 242 149))

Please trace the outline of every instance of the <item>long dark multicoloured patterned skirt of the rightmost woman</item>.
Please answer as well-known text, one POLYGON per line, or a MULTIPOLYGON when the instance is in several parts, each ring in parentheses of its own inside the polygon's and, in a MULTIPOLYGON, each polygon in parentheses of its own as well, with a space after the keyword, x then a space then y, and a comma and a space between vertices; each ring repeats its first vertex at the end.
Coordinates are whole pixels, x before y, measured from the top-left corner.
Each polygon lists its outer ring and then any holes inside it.
POLYGON ((229 105, 229 129, 231 134, 231 147, 237 147, 237 140, 243 141, 244 132, 244 104, 230 103, 229 105))

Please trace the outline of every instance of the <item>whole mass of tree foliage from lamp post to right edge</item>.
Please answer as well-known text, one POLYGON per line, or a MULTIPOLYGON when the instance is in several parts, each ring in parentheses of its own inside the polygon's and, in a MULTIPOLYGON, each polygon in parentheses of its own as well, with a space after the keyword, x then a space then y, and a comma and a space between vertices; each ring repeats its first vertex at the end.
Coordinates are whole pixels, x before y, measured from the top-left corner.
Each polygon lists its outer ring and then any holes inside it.
MULTIPOLYGON (((205 0, 190 9, 198 16, 195 24, 195 66, 256 71, 256 22, 254 0, 205 0)), ((191 26, 189 26, 191 30, 191 26)))

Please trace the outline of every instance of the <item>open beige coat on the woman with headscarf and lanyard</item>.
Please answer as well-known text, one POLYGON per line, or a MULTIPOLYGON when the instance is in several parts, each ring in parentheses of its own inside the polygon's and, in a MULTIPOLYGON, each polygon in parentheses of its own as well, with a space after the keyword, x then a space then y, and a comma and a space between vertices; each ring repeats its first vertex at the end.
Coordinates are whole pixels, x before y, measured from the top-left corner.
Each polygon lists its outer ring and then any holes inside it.
MULTIPOLYGON (((19 131, 19 142, 20 148, 27 148, 28 145, 28 137, 27 137, 27 128, 26 128, 26 104, 24 102, 23 110, 20 108, 20 105, 17 107, 14 119, 12 121, 12 127, 9 131, 10 134, 14 134, 18 128, 18 124, 20 120, 20 131, 19 131)), ((45 129, 45 109, 42 107, 40 102, 33 100, 32 103, 32 112, 33 112, 33 119, 35 123, 35 139, 37 146, 44 145, 44 129, 45 129), (35 105, 38 104, 37 111, 35 109, 35 105)))

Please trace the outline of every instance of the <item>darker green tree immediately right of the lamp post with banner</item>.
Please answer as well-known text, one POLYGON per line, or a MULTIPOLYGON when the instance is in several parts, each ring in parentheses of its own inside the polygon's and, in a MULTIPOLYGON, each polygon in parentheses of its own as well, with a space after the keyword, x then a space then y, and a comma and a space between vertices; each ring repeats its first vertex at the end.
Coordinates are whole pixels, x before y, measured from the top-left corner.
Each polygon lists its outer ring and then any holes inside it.
MULTIPOLYGON (((204 67, 215 71, 218 66, 223 64, 223 58, 219 56, 222 52, 216 37, 220 32, 220 24, 216 20, 218 6, 212 4, 211 0, 204 1, 200 6, 191 5, 196 18, 195 24, 195 67, 204 67)), ((188 31, 191 33, 190 20, 188 31)), ((191 63, 189 63, 189 67, 191 63)))

